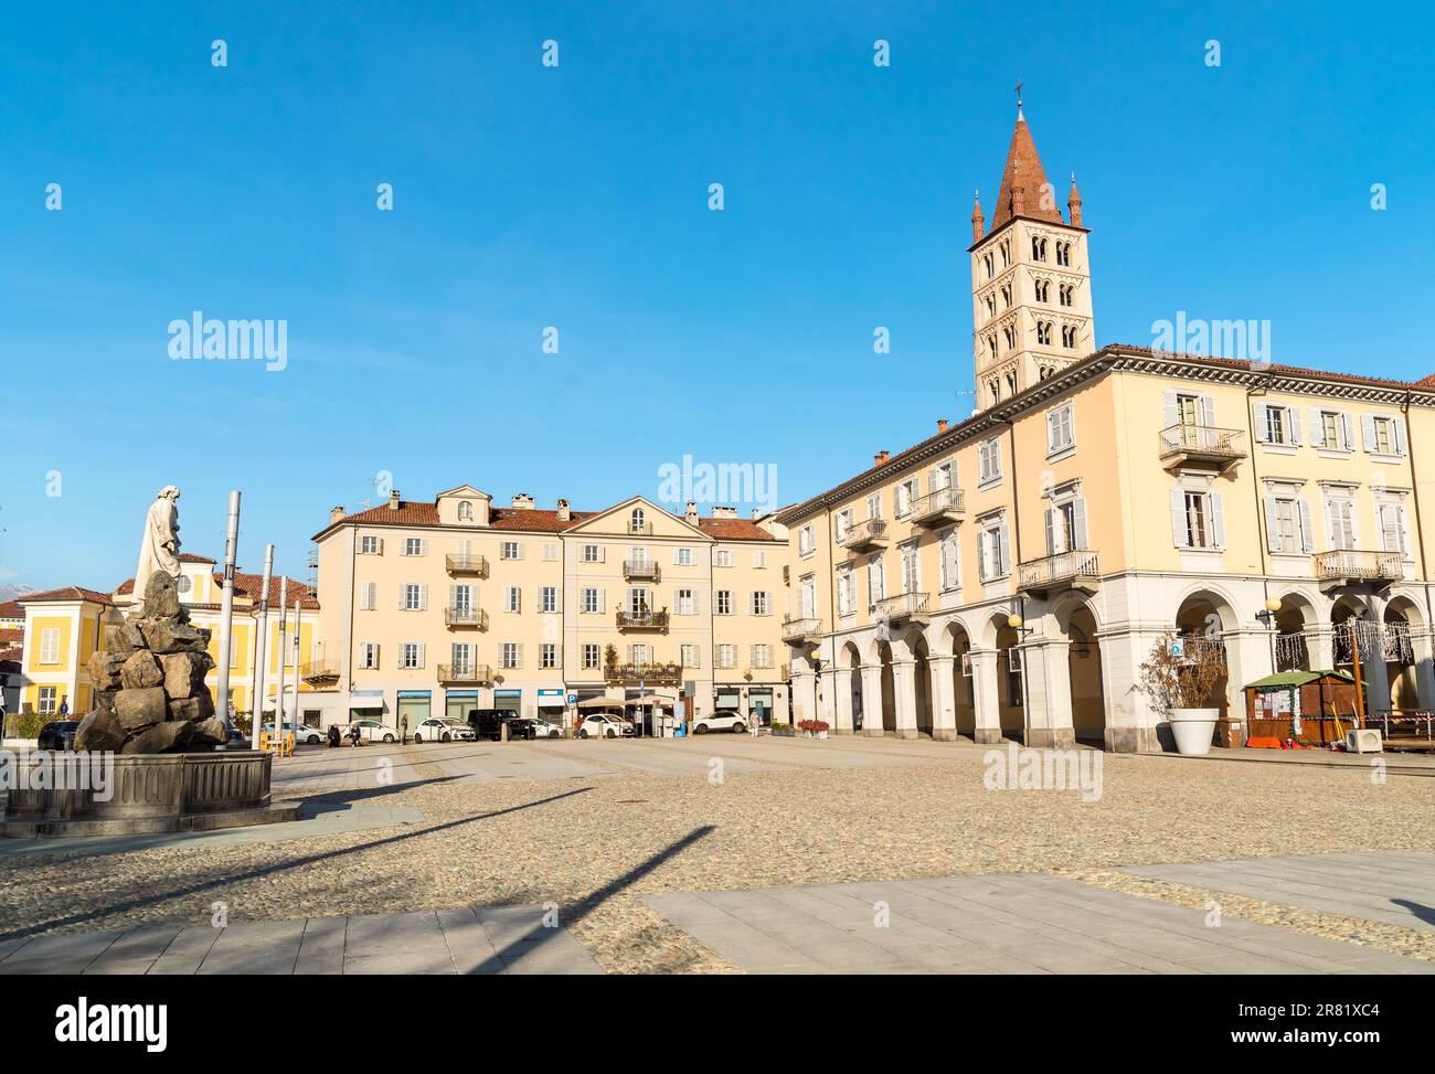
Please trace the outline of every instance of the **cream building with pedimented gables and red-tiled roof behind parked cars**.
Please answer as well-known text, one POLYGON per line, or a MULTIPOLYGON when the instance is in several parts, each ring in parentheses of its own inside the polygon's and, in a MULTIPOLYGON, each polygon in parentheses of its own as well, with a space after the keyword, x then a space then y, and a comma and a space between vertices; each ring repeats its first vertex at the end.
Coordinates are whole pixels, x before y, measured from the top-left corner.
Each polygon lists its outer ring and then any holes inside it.
POLYGON ((461 485, 346 515, 314 536, 323 594, 316 671, 349 712, 410 728, 505 708, 571 725, 626 706, 649 732, 736 709, 788 718, 781 639, 785 533, 634 497, 495 507, 461 485), (684 696, 687 701, 684 702, 684 696))

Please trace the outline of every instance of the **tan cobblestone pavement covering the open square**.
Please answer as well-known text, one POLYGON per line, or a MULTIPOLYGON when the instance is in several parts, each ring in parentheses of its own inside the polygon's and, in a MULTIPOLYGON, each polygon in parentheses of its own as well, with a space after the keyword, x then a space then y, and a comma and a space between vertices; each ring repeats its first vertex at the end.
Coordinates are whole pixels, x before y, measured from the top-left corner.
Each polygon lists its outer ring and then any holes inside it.
MULTIPOLYGON (((733 972, 646 897, 1058 870, 1159 884, 1115 870, 1435 851, 1421 775, 1102 755, 1101 797, 1088 801, 989 790, 984 754, 970 742, 738 735, 300 751, 277 765, 277 795, 326 816, 382 807, 420 820, 0 853, 0 940, 207 923, 215 903, 238 923, 551 900, 607 971, 733 972), (1312 803, 1340 823, 1290 823, 1312 803)), ((1303 920, 1274 923, 1310 932, 1303 920)))

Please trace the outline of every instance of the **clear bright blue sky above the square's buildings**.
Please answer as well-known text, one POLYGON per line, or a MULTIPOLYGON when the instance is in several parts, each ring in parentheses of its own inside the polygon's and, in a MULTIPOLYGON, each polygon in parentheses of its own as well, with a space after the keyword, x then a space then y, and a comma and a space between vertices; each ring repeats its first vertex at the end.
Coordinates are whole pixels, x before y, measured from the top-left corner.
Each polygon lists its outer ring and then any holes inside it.
POLYGON ((297 576, 380 472, 593 508, 692 455, 811 495, 971 408, 1016 79, 1102 343, 1185 310, 1435 372, 1428 9, 1201 7, 7 6, 0 586, 116 584, 171 482, 188 551, 240 488, 241 566, 297 576), (287 368, 171 360, 192 310, 287 320, 287 368))

